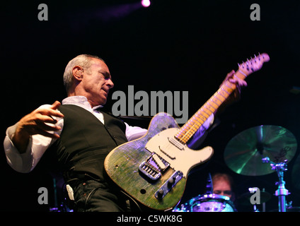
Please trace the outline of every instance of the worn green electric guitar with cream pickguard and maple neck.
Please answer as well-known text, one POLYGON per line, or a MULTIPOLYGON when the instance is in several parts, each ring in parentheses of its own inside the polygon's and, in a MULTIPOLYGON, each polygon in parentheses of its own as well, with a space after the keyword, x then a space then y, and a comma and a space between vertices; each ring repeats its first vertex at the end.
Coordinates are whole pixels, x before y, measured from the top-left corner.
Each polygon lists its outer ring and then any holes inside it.
MULTIPOLYGON (((269 61, 259 54, 238 64, 235 75, 245 79, 269 61)), ((212 97, 180 128, 167 113, 158 113, 150 121, 147 133, 137 140, 119 145, 105 158, 108 176, 129 196, 154 210, 169 210, 182 198, 192 167, 212 157, 212 147, 188 148, 188 141, 236 85, 226 81, 212 97)))

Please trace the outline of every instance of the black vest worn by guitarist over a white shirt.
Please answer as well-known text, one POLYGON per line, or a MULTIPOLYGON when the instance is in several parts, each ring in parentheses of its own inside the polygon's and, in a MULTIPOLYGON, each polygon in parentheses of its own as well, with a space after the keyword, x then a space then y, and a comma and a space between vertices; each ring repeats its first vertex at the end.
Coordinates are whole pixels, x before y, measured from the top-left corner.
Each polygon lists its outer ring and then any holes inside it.
POLYGON ((88 174, 104 181, 106 155, 127 142, 125 124, 104 112, 105 125, 91 112, 76 105, 61 105, 64 128, 60 138, 51 146, 65 181, 88 174))

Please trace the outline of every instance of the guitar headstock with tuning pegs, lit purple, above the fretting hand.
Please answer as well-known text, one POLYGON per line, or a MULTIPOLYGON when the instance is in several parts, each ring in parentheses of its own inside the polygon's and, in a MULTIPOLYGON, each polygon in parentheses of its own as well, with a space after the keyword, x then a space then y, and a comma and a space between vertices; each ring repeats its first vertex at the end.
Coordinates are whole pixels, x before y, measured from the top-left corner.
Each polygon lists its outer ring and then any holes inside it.
POLYGON ((260 70, 262 64, 267 61, 270 61, 270 57, 266 53, 258 54, 258 56, 254 55, 254 58, 251 57, 250 59, 247 59, 246 62, 238 64, 238 70, 246 73, 248 76, 250 73, 260 70))

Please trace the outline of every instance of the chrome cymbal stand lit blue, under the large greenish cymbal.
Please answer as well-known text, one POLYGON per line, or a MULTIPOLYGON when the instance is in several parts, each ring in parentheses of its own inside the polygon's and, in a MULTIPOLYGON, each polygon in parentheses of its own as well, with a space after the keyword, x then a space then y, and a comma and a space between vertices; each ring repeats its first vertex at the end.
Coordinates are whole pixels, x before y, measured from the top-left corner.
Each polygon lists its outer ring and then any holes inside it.
POLYGON ((278 185, 278 189, 275 191, 275 196, 278 197, 278 207, 279 212, 287 211, 287 201, 285 196, 288 196, 290 193, 287 189, 285 189, 285 182, 283 180, 284 171, 287 171, 287 160, 284 162, 275 163, 270 160, 269 157, 262 158, 263 163, 270 163, 272 170, 276 170, 279 181, 276 182, 278 185))

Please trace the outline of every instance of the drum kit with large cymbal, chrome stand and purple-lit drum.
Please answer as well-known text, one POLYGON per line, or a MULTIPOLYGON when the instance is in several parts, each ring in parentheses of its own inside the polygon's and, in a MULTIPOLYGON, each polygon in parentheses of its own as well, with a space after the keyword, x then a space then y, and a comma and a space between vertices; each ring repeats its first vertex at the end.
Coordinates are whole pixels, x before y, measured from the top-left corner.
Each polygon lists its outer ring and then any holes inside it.
MULTIPOLYGON (((226 165, 237 174, 256 177, 277 172, 278 182, 275 196, 278 198, 276 212, 300 212, 300 208, 292 208, 287 203, 286 196, 290 193, 285 188, 284 172, 287 164, 296 155, 297 142, 294 135, 282 126, 255 126, 234 136, 226 145, 224 160, 226 165)), ((209 181, 209 180, 208 180, 209 181)), ((228 196, 212 194, 196 196, 184 204, 178 204, 173 212, 236 212, 233 202, 228 196)), ((238 197, 240 205, 253 206, 254 212, 259 212, 256 204, 265 204, 272 197, 262 189, 259 200, 254 201, 258 188, 249 188, 248 193, 238 197)), ((257 197, 256 197, 257 198, 257 197)), ((291 202, 292 203, 292 202, 291 202)), ((265 211, 263 209, 262 211, 265 211)))

